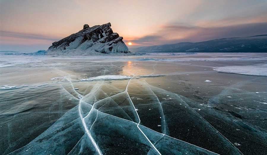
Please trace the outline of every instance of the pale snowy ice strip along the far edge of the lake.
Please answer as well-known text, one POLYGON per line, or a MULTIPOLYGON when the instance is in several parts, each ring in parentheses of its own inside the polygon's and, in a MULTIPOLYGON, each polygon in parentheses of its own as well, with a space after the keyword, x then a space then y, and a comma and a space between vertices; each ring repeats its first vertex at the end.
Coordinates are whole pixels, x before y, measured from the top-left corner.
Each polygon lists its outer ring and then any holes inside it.
POLYGON ((32 55, 6 55, 0 53, 0 67, 15 66, 44 59, 88 59, 94 62, 109 61, 267 61, 267 53, 137 53, 131 54, 101 54, 92 56, 32 56, 32 55))

